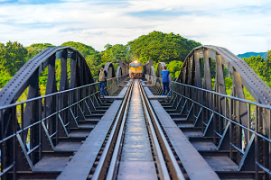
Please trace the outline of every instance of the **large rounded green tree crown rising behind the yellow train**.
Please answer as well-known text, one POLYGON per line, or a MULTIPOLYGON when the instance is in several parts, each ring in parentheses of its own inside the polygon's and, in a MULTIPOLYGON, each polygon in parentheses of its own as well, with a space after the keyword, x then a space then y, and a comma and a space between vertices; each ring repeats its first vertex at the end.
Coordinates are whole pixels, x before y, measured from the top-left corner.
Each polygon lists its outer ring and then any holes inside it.
POLYGON ((149 59, 169 63, 173 60, 183 61, 193 48, 200 45, 201 43, 187 40, 179 34, 153 31, 129 41, 127 47, 128 53, 131 54, 129 57, 137 58, 143 63, 149 59))

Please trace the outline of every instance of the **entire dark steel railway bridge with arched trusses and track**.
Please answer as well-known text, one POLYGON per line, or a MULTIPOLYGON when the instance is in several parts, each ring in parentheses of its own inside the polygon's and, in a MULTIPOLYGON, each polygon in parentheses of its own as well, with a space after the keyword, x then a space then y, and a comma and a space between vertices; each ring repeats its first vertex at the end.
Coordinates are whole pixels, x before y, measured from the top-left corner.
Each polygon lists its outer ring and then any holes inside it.
POLYGON ((248 64, 225 48, 192 49, 171 96, 161 95, 164 66, 150 59, 144 79, 129 79, 126 62, 107 62, 100 98, 77 49, 27 61, 0 92, 1 179, 270 179, 271 89, 248 64))

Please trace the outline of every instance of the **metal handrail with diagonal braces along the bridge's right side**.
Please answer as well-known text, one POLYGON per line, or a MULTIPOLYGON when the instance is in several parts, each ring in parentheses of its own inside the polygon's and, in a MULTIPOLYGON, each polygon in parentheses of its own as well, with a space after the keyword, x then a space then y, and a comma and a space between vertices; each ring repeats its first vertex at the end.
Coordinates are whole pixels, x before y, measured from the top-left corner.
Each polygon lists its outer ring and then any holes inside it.
MULTIPOLYGON (((268 156, 270 153, 270 148, 269 149, 264 149, 262 148, 260 145, 260 140, 264 141, 263 143, 266 143, 266 146, 271 146, 271 133, 270 133, 270 129, 268 130, 268 126, 270 126, 270 112, 271 112, 271 106, 263 104, 263 103, 256 103, 256 102, 252 102, 246 99, 242 99, 242 98, 238 98, 235 96, 230 96, 227 94, 220 94, 217 93, 215 91, 211 91, 211 90, 207 90, 207 89, 203 89, 201 87, 196 87, 196 86, 192 86, 192 85, 184 85, 182 83, 178 83, 178 82, 173 82, 173 89, 172 89, 174 94, 177 94, 180 98, 183 98, 186 101, 191 102, 190 105, 187 108, 192 108, 193 105, 196 108, 196 111, 192 112, 193 115, 196 114, 196 120, 194 120, 194 125, 196 124, 200 116, 200 113, 203 111, 201 111, 201 109, 204 109, 205 111, 205 116, 207 116, 208 118, 206 119, 206 117, 204 116, 201 117, 202 118, 202 130, 204 131, 203 136, 205 135, 205 132, 207 129, 209 129, 209 123, 210 121, 212 121, 212 119, 214 118, 214 114, 216 115, 216 120, 222 120, 223 122, 223 127, 222 130, 217 131, 215 128, 211 128, 211 130, 213 130, 213 135, 210 135, 213 139, 219 138, 219 143, 218 143, 218 150, 220 150, 220 146, 222 146, 221 144, 223 144, 223 140, 224 139, 228 139, 229 143, 224 144, 223 146, 229 146, 229 157, 232 158, 233 157, 233 149, 236 150, 238 152, 237 155, 237 164, 238 164, 238 170, 241 170, 243 168, 243 166, 246 164, 246 159, 248 158, 255 158, 255 164, 251 164, 250 166, 255 166, 255 170, 256 170, 256 179, 258 179, 258 174, 259 174, 259 168, 262 169, 263 171, 266 172, 267 175, 271 175, 270 174, 270 170, 267 170, 268 168, 270 168, 270 164, 266 164, 265 161, 263 161, 263 157, 259 156, 259 153, 262 152, 263 155, 262 156, 268 156), (177 90, 179 89, 179 90, 177 90), (182 92, 182 89, 185 89, 185 93, 182 92), (189 94, 192 95, 192 92, 194 94, 198 94, 198 95, 203 95, 202 97, 205 97, 208 99, 208 102, 205 102, 201 99, 196 98, 195 95, 190 96, 186 96, 186 92, 190 92, 189 94), (224 99, 224 103, 225 103, 225 107, 219 107, 219 104, 212 104, 215 101, 219 101, 221 99, 224 99), (211 102, 211 103, 210 103, 211 102), (241 121, 242 115, 240 114, 240 104, 245 104, 246 107, 248 108, 248 112, 243 112, 244 114, 248 113, 248 121, 246 121, 245 123, 243 123, 243 121, 241 121), (228 107, 229 106, 229 107, 228 107), (197 108, 198 107, 198 108, 197 108), (255 116, 255 120, 253 120, 253 118, 251 118, 251 111, 250 108, 255 108, 256 111, 256 116, 255 116), (223 109, 223 111, 219 111, 223 109), (204 121, 204 119, 206 119, 206 121, 204 121), (255 128, 251 128, 251 122, 254 121, 255 123, 255 128), (237 127, 238 133, 241 133, 241 135, 238 135, 238 139, 237 140, 233 140, 233 134, 232 134, 232 125, 237 127), (226 137, 226 133, 229 130, 229 137, 226 137), (247 133, 247 134, 246 134, 247 133), (242 143, 240 142, 242 137, 246 138, 246 146, 242 145, 242 143), (259 140, 260 139, 260 140, 259 140), (255 149, 252 148, 252 144, 255 143, 255 149), (253 154, 249 153, 254 151, 253 154), (265 151, 263 151, 265 150, 265 151), (262 161, 260 161, 262 160, 262 161), (261 164, 260 162, 262 162, 263 164, 261 164)), ((183 100, 183 101, 184 101, 183 100)), ((191 113, 191 112, 189 112, 191 113)), ((188 117, 188 115, 187 115, 188 117)), ((246 118, 247 119, 247 118, 246 118)), ((215 120, 213 120, 215 121, 215 120)), ((200 126, 199 126, 200 127, 200 126)), ((267 157, 270 161, 270 157, 267 157)), ((246 166, 248 166, 248 164, 246 164, 246 166)), ((269 176, 270 177, 270 176, 269 176)))

